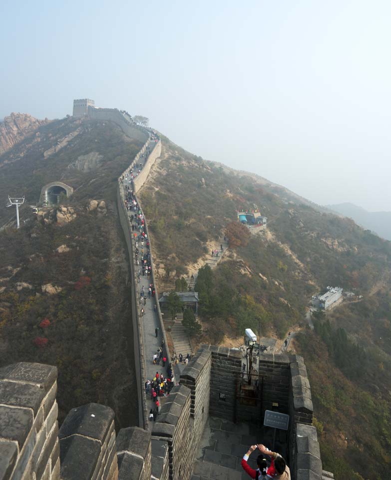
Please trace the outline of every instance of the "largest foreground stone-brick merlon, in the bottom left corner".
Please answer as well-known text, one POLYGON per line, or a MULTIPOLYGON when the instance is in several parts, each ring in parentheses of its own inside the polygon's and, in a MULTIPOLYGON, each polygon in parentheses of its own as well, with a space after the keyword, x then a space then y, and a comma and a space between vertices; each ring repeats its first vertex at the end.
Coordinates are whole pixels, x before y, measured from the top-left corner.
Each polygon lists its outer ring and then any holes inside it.
POLYGON ((57 368, 19 362, 0 368, 0 479, 60 478, 57 368))

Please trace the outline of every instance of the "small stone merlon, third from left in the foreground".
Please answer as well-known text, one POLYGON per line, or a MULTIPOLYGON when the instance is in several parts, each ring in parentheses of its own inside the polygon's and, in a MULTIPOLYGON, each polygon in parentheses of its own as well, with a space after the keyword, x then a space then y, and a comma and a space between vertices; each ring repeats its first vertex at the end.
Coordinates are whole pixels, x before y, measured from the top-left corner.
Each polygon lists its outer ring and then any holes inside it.
POLYGON ((151 433, 137 426, 119 430, 116 440, 118 480, 150 480, 151 433))

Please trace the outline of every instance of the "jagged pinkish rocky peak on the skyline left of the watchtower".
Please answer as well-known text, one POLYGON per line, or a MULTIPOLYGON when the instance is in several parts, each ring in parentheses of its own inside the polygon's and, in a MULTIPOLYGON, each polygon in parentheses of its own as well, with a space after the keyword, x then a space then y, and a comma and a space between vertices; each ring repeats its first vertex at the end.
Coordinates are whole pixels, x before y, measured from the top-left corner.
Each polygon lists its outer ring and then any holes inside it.
POLYGON ((49 120, 38 120, 28 113, 11 113, 0 123, 0 155, 33 133, 40 125, 49 120))

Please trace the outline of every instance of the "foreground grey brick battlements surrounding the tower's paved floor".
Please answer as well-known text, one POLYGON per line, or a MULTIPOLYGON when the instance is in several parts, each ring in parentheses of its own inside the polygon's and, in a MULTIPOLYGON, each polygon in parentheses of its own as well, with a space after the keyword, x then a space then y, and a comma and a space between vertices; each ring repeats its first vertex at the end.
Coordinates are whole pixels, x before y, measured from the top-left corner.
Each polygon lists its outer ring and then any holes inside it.
POLYGON ((202 345, 183 370, 180 385, 162 398, 152 429, 122 428, 117 437, 114 412, 97 403, 73 408, 58 430, 55 367, 22 362, 3 367, 0 480, 190 480, 210 415, 254 425, 272 400, 279 402, 279 411, 290 415, 287 460, 292 478, 321 480, 322 461, 311 424, 311 390, 303 359, 262 355, 260 408, 241 405, 236 394, 241 362, 238 350, 202 345))

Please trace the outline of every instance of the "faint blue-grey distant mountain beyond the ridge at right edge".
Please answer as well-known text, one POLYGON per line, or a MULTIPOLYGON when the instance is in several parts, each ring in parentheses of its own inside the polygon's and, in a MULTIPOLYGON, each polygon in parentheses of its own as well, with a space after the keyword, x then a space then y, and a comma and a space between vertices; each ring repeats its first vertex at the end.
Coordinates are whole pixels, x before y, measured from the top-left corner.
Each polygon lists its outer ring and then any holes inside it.
POLYGON ((326 205, 326 207, 352 218, 364 228, 391 240, 391 211, 367 211, 361 206, 349 202, 326 205))

